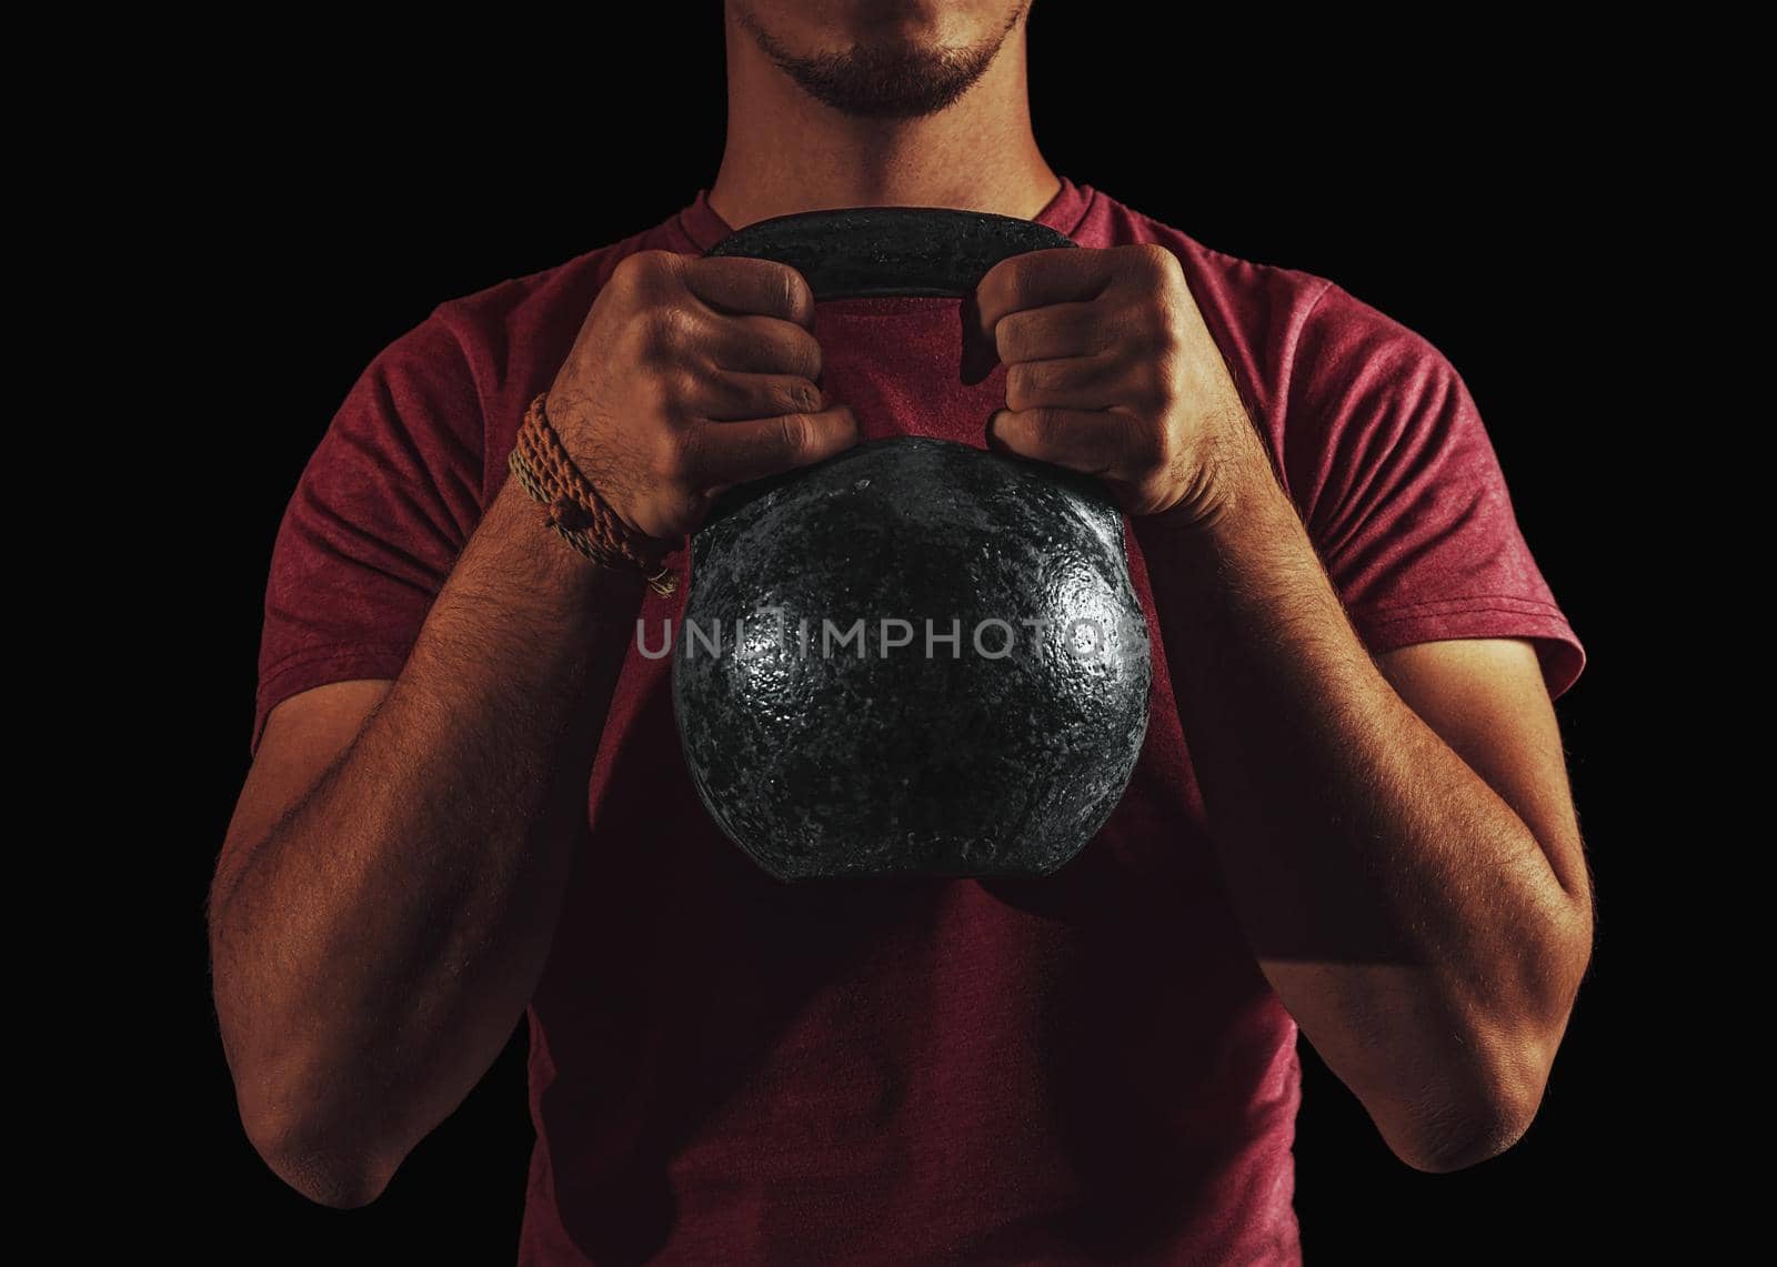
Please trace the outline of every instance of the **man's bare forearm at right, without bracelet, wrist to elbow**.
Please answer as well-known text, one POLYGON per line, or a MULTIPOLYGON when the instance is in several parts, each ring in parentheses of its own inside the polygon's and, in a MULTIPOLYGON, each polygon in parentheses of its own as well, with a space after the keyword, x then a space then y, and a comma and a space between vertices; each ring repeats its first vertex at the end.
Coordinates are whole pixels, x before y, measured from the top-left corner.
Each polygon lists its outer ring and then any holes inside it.
POLYGON ((1240 462, 1208 522, 1137 521, 1231 899, 1395 1151, 1464 1164, 1541 1098, 1583 896, 1377 670, 1263 451, 1240 462))

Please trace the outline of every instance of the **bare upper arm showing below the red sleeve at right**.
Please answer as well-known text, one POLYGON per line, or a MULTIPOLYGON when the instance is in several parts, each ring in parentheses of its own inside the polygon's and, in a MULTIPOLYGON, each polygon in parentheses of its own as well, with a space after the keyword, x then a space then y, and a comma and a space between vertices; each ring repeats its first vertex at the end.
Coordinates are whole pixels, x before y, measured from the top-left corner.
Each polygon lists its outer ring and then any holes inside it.
POLYGON ((1395 693, 1523 819, 1582 910, 1590 883, 1560 725, 1525 638, 1454 638, 1381 652, 1395 693))

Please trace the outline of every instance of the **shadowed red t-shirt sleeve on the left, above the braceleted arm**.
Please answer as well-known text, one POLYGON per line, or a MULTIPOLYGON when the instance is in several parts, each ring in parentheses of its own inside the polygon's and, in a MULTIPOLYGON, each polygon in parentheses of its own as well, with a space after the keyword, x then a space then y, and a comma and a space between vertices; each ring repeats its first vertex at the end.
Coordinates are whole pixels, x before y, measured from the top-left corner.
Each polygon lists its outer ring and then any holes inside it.
POLYGON ((483 410, 434 309, 359 375, 284 508, 265 590, 252 736, 299 691, 393 679, 480 521, 483 410))

